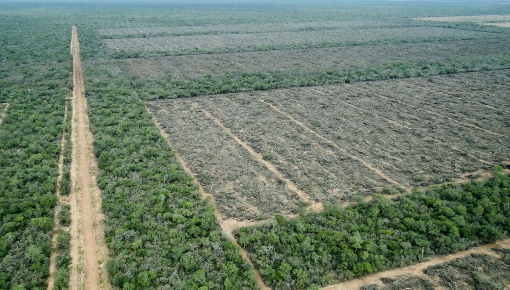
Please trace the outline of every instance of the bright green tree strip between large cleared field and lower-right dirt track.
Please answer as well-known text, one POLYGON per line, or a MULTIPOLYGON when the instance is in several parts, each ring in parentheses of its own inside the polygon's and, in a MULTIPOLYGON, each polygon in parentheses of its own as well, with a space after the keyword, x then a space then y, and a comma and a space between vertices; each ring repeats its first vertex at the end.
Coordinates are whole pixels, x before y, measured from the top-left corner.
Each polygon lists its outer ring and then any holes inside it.
POLYGON ((510 229, 510 176, 443 184, 388 199, 236 230, 275 289, 333 284, 502 239, 510 229))

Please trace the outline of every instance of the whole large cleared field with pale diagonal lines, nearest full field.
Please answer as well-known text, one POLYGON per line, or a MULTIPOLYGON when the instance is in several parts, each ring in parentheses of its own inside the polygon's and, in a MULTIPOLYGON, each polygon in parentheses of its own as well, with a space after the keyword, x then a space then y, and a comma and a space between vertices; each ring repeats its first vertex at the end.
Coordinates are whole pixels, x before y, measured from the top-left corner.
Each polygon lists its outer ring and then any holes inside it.
POLYGON ((508 80, 505 70, 148 104, 220 212, 254 218, 249 210, 265 216, 303 205, 260 157, 317 202, 454 181, 508 164, 508 97, 493 95, 486 106, 477 97, 508 90, 500 88, 508 80), (441 92, 457 87, 466 92, 462 99, 441 92))

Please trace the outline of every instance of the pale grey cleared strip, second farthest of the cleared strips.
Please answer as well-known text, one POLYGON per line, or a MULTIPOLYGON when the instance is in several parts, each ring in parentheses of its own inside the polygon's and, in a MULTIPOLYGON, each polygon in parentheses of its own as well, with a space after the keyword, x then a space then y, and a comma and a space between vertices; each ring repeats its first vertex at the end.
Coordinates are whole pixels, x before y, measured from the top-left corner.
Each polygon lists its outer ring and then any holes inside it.
MULTIPOLYGON (((111 51, 214 51, 215 49, 264 47, 268 45, 295 45, 306 43, 363 42, 391 40, 411 41, 419 39, 473 39, 492 38, 494 33, 457 30, 443 27, 368 28, 365 30, 325 30, 303 32, 274 32, 253 34, 193 35, 155 38, 105 39, 103 43, 111 51)), ((253 50, 253 49, 251 49, 253 50)))

